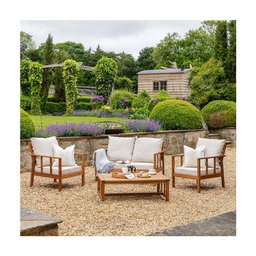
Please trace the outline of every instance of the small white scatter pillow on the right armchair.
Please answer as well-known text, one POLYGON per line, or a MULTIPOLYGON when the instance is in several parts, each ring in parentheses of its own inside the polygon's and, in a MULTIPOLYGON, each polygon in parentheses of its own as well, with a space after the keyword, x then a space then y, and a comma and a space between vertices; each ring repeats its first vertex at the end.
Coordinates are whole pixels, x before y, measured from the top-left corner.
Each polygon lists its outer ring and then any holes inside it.
MULTIPOLYGON (((204 146, 196 149, 184 145, 184 164, 182 167, 197 167, 197 158, 204 157, 204 146)), ((205 161, 200 161, 200 167, 205 168, 205 161)))

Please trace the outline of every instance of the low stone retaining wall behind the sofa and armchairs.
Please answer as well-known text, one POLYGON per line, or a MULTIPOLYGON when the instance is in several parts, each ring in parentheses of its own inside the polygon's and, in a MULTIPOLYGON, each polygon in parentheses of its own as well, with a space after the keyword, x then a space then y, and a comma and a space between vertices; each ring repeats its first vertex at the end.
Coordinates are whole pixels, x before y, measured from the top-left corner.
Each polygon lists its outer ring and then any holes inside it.
MULTIPOLYGON (((125 133, 115 135, 118 137, 150 137, 164 138, 164 154, 180 154, 183 152, 183 145, 188 147, 196 146, 199 137, 205 138, 205 130, 184 130, 184 131, 161 131, 161 132, 140 132, 140 133, 125 133)), ((108 136, 88 136, 88 137, 67 137, 57 138, 60 147, 66 148, 70 145, 76 145, 77 153, 86 154, 86 166, 92 165, 92 155, 98 148, 108 148, 108 136)), ((20 172, 29 172, 31 168, 31 156, 28 150, 29 140, 20 140, 20 172)), ((79 164, 79 157, 76 162, 79 164)))

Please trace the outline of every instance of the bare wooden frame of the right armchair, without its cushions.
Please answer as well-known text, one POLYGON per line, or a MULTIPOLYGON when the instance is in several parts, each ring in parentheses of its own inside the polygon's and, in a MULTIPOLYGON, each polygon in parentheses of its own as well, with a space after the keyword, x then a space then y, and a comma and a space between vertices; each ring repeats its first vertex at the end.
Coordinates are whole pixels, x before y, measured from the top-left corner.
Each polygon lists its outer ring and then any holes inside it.
POLYGON ((201 180, 203 179, 212 179, 216 177, 221 177, 221 185, 222 188, 225 188, 225 179, 224 179, 224 168, 223 168, 223 158, 225 157, 225 150, 227 145, 230 144, 230 141, 227 141, 222 149, 220 156, 211 156, 211 157, 200 157, 197 159, 197 175, 189 175, 189 174, 182 174, 182 173, 175 173, 175 158, 180 157, 180 166, 183 164, 183 157, 184 154, 177 154, 172 156, 172 187, 175 188, 175 177, 185 178, 185 179, 193 179, 196 180, 196 187, 197 192, 200 193, 201 191, 201 180), (214 159, 214 167, 213 167, 213 174, 208 174, 208 159, 214 159), (216 173, 216 159, 219 159, 220 164, 220 173, 216 173), (200 161, 205 160, 205 175, 201 175, 200 173, 200 161))

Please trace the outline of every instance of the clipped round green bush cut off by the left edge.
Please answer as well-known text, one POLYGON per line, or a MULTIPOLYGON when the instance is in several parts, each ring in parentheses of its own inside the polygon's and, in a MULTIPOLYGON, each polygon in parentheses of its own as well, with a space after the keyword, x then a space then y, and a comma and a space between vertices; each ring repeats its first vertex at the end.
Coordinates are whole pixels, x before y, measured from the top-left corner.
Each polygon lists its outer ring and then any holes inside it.
POLYGON ((20 139, 30 139, 35 135, 35 125, 31 117, 22 108, 20 109, 20 139))

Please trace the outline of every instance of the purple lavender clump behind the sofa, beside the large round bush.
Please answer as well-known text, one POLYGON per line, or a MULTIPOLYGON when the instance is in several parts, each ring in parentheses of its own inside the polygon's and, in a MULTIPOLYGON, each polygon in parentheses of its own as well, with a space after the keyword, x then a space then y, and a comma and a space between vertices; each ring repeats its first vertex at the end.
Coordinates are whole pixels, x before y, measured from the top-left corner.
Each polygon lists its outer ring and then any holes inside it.
POLYGON ((128 121, 127 126, 132 132, 157 132, 162 128, 162 125, 156 120, 128 121))

